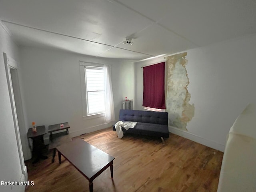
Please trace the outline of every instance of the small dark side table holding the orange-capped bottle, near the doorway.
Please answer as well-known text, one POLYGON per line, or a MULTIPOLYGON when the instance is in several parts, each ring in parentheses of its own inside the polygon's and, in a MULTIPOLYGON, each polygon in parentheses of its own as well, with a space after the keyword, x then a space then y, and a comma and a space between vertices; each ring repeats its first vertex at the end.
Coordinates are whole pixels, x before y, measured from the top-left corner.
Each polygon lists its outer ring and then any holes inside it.
POLYGON ((39 159, 47 159, 47 156, 42 155, 42 150, 46 147, 44 145, 44 134, 45 132, 45 126, 36 126, 36 132, 32 131, 32 128, 28 129, 27 138, 31 138, 33 140, 33 149, 30 146, 30 142, 28 141, 29 148, 33 155, 35 155, 35 160, 33 163, 36 163, 39 161, 39 159))

